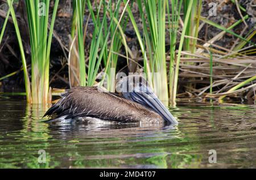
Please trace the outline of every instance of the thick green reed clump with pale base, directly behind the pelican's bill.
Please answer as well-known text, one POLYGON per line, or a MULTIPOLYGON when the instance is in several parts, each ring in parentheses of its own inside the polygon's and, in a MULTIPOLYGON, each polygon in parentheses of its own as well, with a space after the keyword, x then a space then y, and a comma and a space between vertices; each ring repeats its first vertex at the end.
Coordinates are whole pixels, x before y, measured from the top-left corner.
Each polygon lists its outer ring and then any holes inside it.
MULTIPOLYGON (((166 1, 138 0, 139 12, 143 22, 146 50, 152 72, 152 85, 156 95, 168 105, 168 83, 166 66, 166 1)), ((144 64, 147 67, 147 64, 144 64)))

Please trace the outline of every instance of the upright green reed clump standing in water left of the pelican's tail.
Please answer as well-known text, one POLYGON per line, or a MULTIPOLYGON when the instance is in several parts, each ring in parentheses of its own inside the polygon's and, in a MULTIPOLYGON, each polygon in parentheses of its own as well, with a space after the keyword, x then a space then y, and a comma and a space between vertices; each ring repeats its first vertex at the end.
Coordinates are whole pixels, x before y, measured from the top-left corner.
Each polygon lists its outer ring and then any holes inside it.
POLYGON ((48 102, 49 54, 51 50, 53 25, 59 0, 54 2, 51 25, 48 31, 49 0, 26 0, 28 28, 31 46, 32 102, 48 102))

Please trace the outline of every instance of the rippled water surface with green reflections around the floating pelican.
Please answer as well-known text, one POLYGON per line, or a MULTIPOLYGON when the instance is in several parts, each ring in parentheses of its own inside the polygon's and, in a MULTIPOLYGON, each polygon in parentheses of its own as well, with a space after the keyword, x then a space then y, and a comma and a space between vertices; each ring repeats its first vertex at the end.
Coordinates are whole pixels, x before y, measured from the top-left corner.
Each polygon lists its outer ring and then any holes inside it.
POLYGON ((0 168, 256 167, 254 106, 180 105, 171 109, 177 126, 48 125, 47 108, 0 101, 0 168))

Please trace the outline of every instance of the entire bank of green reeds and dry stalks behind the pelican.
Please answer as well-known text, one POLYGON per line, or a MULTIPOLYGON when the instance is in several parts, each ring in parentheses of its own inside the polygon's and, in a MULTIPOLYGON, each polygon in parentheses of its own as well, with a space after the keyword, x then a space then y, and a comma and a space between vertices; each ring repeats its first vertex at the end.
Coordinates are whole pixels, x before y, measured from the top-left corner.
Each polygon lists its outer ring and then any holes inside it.
POLYGON ((21 76, 26 93, 13 94, 48 104, 76 85, 105 82, 114 92, 118 72, 137 72, 146 74, 165 105, 255 104, 255 6, 235 0, 2 0, 0 87, 21 76), (63 17, 69 20, 59 24, 63 17), (69 28, 65 39, 60 27, 69 28), (7 70, 11 59, 22 67, 7 70))

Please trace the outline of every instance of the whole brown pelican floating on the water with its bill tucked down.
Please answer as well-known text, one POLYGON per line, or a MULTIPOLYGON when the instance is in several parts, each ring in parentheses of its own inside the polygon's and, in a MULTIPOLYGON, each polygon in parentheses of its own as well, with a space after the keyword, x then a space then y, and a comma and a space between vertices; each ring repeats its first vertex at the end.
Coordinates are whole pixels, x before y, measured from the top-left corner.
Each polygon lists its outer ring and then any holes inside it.
POLYGON ((117 93, 98 87, 73 87, 44 114, 47 122, 112 121, 121 123, 176 124, 176 119, 139 75, 125 76, 117 83, 117 93))

